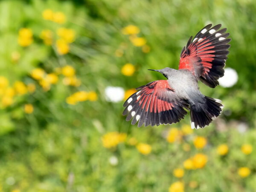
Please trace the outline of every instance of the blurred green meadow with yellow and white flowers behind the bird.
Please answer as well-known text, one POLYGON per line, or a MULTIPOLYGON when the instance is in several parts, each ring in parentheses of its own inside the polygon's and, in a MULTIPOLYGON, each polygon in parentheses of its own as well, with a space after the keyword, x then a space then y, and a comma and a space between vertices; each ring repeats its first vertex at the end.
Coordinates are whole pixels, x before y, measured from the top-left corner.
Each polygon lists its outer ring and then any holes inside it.
POLYGON ((1 0, 0 191, 256 191, 255 0, 1 0), (230 32, 224 112, 131 126, 124 100, 177 69, 205 25, 230 32))

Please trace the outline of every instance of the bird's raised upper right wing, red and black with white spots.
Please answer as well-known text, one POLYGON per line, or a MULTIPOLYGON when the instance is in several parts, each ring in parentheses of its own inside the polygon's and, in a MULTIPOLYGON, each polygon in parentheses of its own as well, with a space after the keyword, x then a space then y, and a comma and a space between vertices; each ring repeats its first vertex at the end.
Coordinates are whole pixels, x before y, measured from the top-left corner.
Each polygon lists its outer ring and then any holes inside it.
POLYGON ((205 26, 194 39, 190 37, 180 54, 179 69, 188 69, 209 87, 217 86, 218 79, 224 75, 224 66, 230 45, 229 33, 221 24, 205 26))

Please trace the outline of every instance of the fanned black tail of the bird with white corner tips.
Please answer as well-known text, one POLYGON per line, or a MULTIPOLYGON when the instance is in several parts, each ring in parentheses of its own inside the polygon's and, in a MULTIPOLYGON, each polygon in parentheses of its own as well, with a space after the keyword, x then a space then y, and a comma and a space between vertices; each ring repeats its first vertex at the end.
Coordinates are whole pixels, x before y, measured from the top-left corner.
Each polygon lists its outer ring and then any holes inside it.
POLYGON ((221 100, 205 97, 205 103, 196 103, 190 106, 191 128, 204 128, 216 117, 221 115, 223 105, 221 100))

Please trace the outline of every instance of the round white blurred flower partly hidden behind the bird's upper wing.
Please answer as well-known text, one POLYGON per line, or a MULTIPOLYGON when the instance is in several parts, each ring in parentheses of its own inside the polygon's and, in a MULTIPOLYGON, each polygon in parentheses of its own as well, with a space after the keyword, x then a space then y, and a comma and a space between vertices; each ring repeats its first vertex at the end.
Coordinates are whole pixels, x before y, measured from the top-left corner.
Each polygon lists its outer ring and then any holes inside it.
POLYGON ((238 80, 237 72, 235 69, 232 68, 226 68, 224 70, 224 76, 221 77, 218 81, 220 85, 223 87, 232 87, 236 84, 238 80))

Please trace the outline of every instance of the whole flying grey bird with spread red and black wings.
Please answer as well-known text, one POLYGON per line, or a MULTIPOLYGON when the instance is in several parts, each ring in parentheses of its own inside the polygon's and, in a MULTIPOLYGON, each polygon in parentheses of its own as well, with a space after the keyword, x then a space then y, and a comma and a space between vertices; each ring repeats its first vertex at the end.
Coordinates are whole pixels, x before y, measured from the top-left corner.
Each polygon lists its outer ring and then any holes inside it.
POLYGON ((180 54, 178 69, 148 69, 159 72, 167 80, 155 80, 137 88, 124 103, 122 115, 134 125, 159 126, 180 122, 190 111, 191 128, 208 126, 221 115, 221 100, 203 95, 198 81, 215 88, 224 76, 231 40, 227 29, 212 24, 189 38, 180 54))

